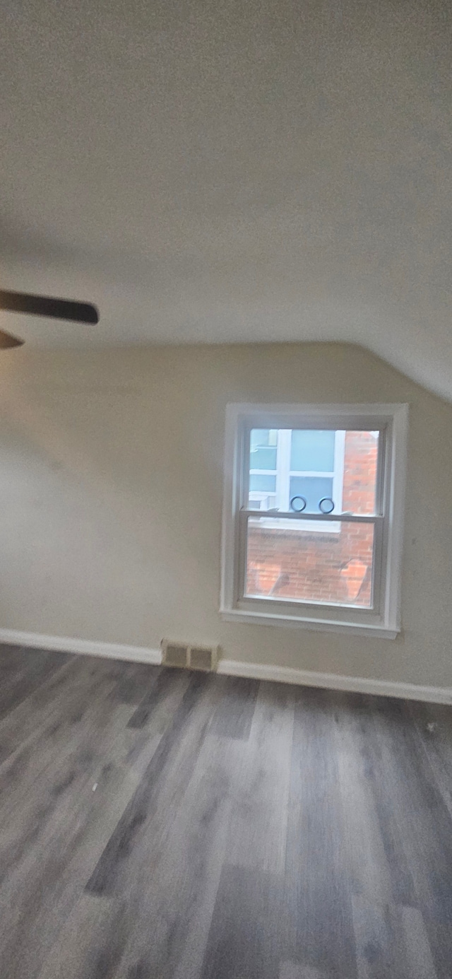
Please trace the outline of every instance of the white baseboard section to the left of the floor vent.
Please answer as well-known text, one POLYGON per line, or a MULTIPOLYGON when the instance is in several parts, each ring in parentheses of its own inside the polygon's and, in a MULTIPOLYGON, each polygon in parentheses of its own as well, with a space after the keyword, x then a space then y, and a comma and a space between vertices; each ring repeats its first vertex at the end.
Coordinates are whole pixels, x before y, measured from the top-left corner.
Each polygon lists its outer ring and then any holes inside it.
POLYGON ((90 639, 72 639, 66 635, 42 635, 40 632, 21 632, 17 629, 0 629, 0 642, 13 646, 29 646, 34 649, 58 649, 62 653, 81 653, 84 656, 107 656, 113 660, 129 660, 132 663, 161 663, 159 649, 146 646, 122 646, 115 642, 95 642, 90 639))

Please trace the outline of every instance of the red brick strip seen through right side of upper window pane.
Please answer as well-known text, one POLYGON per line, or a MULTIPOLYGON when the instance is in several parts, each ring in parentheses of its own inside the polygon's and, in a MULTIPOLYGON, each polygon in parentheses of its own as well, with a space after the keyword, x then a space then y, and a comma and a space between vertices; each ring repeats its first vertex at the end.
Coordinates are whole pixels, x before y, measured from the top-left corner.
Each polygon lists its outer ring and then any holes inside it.
POLYGON ((345 432, 342 512, 375 513, 379 432, 345 432))

